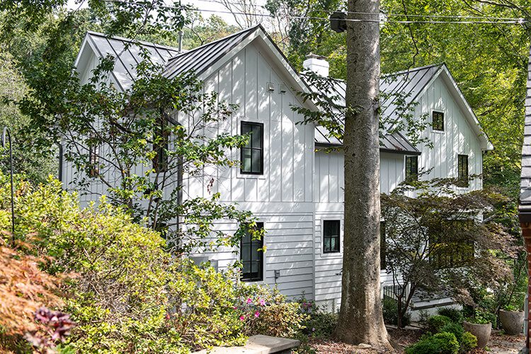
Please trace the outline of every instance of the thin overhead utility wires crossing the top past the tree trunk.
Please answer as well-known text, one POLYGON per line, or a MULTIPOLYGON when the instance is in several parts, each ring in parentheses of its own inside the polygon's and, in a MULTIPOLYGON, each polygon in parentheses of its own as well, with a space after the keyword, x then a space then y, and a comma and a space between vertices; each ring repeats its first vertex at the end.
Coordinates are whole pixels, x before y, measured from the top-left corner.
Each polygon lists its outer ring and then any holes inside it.
MULTIPOLYGON (((149 7, 150 5, 147 4, 139 4, 132 1, 125 1, 125 0, 104 0, 105 2, 110 3, 120 3, 120 4, 131 4, 136 6, 145 6, 149 7)), ((188 8, 185 6, 157 6, 159 8, 168 8, 168 9, 175 9, 175 10, 191 10, 191 11, 199 11, 199 12, 208 12, 208 13, 227 13, 230 15, 241 15, 241 16, 256 16, 261 18, 275 18, 275 16, 270 15, 268 13, 250 13, 250 12, 243 12, 243 11, 224 11, 224 10, 212 10, 207 8, 188 8)), ((471 24, 511 24, 511 25, 522 25, 523 23, 526 23, 527 20, 525 18, 511 18, 509 20, 501 20, 501 21, 423 21, 423 20, 387 20, 382 19, 382 16, 385 17, 384 13, 357 13, 360 15, 371 15, 371 16, 379 16, 379 19, 370 19, 370 18, 346 18, 346 22, 364 22, 364 23, 425 23, 425 24, 464 24, 464 25, 471 25, 471 24)), ((404 16, 405 14, 394 14, 394 16, 404 16)), ((409 17, 428 17, 423 15, 407 15, 409 17)), ((435 16, 435 15, 431 15, 435 16)), ((292 15, 286 15, 281 16, 282 18, 290 18, 290 19, 296 19, 296 20, 315 20, 315 21, 330 21, 329 18, 324 17, 316 17, 316 16, 292 16, 292 15)), ((465 18, 464 16, 463 18, 465 18)), ((485 16, 486 17, 486 16, 485 16)), ((449 18, 452 18, 449 16, 449 18)), ((472 17, 468 16, 468 18, 483 18, 483 17, 472 17)))

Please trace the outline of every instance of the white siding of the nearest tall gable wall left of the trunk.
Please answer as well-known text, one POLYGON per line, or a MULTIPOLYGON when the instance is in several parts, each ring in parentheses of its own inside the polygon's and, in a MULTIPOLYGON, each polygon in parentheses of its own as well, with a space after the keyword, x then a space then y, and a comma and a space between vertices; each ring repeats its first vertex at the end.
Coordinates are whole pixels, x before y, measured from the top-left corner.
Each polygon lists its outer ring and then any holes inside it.
MULTIPOLYGON (((263 175, 244 175, 239 167, 209 167, 203 176, 185 178, 185 195, 219 193, 222 202, 237 202, 241 210, 253 212, 265 229, 263 282, 278 286, 288 297, 313 299, 314 126, 296 124, 302 117, 291 107, 302 103, 264 52, 255 40, 204 81, 205 92, 215 91, 219 100, 238 105, 234 118, 220 122, 209 134, 240 134, 242 121, 263 124, 263 175), (268 82, 275 91, 267 90, 268 82), (287 91, 281 93, 280 86, 287 91), (275 270, 280 271, 276 279, 275 270)), ((227 154, 239 160, 239 149, 227 154)), ((227 232, 236 228, 219 226, 227 232)), ((219 268, 239 258, 235 249, 207 256, 219 268)))

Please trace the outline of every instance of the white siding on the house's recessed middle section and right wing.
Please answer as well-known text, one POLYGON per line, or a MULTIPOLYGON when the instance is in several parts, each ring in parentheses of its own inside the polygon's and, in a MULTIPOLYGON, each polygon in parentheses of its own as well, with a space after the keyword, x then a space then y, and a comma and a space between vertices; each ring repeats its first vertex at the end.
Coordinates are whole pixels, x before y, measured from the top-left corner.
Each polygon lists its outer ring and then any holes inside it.
MULTIPOLYGON (((433 142, 433 148, 419 145, 419 171, 430 171, 422 179, 457 177, 457 155, 469 156, 469 174, 482 173, 482 152, 478 137, 469 125, 466 113, 459 108, 459 99, 448 89, 449 81, 438 76, 417 99, 414 117, 419 119, 438 110, 445 113, 444 132, 428 127, 423 137, 433 142)), ((315 154, 315 300, 330 310, 341 303, 341 268, 343 253, 322 252, 322 222, 325 219, 341 219, 341 249, 343 249, 343 153, 317 151, 315 154)), ((380 192, 390 193, 405 178, 403 154, 380 152, 380 192)), ((481 178, 471 181, 468 188, 457 188, 457 193, 482 188, 481 178)), ((414 196, 414 195, 411 195, 414 196)), ((392 285, 391 275, 380 273, 383 285, 392 285)))

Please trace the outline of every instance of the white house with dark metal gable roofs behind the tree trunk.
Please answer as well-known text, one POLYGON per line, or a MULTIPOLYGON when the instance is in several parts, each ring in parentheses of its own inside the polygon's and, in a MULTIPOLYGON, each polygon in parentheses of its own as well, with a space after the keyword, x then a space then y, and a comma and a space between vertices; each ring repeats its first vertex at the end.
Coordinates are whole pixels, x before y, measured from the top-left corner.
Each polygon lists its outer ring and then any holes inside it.
MULTIPOLYGON (((127 89, 135 79, 134 67, 139 59, 138 47, 131 45, 124 50, 124 42, 127 42, 124 38, 87 33, 76 60, 81 81, 90 77, 91 69, 101 57, 110 54, 118 57, 111 80, 117 89, 127 89)), ((316 109, 312 103, 303 103, 297 97, 296 91, 309 91, 302 76, 292 69, 261 26, 183 53, 161 45, 145 46, 154 60, 166 64, 167 76, 194 70, 204 82, 205 91, 217 91, 219 99, 239 105, 234 119, 219 123, 219 133, 239 134, 242 126, 244 129, 258 127, 263 132, 260 173, 212 168, 205 171, 205 176, 185 178, 185 195, 207 196, 219 192, 222 202, 237 202, 242 210, 250 210, 263 223, 267 252, 258 272, 261 274, 253 277, 255 281, 277 285, 289 297, 304 295, 330 309, 337 308, 341 300, 343 155, 341 149, 324 151, 341 142, 326 137, 321 127, 296 124, 302 121, 302 116, 294 113, 291 105, 316 109), (217 178, 209 189, 210 177, 206 176, 212 175, 217 178), (329 252, 325 252, 324 224, 329 225, 327 232, 330 232, 337 220, 341 230, 338 251, 329 246, 329 252)), ((326 67, 319 60, 307 64, 326 67)), ((326 73, 326 68, 320 70, 321 74, 326 73)), ((416 118, 424 114, 431 117, 433 111, 442 113, 442 130, 428 127, 423 132, 433 142, 433 149, 413 147, 400 134, 385 137, 380 154, 382 193, 389 193, 404 181, 406 156, 418 156, 419 171, 430 170, 423 178, 457 177, 458 160, 464 166, 464 157, 458 155, 467 156, 468 174, 481 174, 482 153, 492 146, 445 65, 411 69, 396 77, 390 84, 382 81, 382 91, 408 93, 409 100, 418 102, 416 118), (398 81, 400 86, 396 84, 398 81)), ((344 85, 338 84, 337 91, 340 95, 344 93, 344 85)), ((384 114, 392 114, 392 102, 386 109, 384 114)), ((234 159, 239 156, 240 152, 232 152, 234 159)), ((77 173, 74 168, 64 163, 65 188, 76 188, 74 173, 77 173)), ((98 183, 93 188, 105 193, 98 183)), ((481 178, 460 190, 479 188, 481 178)), ((97 197, 81 198, 82 202, 89 202, 97 197)), ((216 227, 228 232, 236 229, 229 222, 219 222, 216 227)), ((330 239, 326 237, 329 245, 333 242, 330 239)), ((219 249, 202 257, 224 268, 239 257, 234 251, 219 249)), ((384 271, 382 281, 387 281, 384 271)))

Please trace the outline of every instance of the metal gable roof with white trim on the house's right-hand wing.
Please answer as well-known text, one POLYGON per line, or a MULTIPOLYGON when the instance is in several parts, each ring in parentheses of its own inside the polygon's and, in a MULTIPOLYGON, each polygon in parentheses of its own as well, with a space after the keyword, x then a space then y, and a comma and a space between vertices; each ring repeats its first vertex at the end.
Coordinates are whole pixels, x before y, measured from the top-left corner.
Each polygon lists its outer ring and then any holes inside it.
MULTIPOLYGON (((409 70, 404 70, 403 72, 395 72, 392 74, 387 74, 382 76, 379 82, 380 91, 384 93, 384 100, 380 103, 382 105, 382 115, 389 118, 396 118, 396 108, 399 105, 398 101, 404 99, 404 103, 409 105, 415 102, 419 96, 421 96, 430 84, 435 81, 438 77, 442 77, 447 83, 447 86, 450 87, 450 91, 455 96, 455 100, 460 108, 462 108, 467 122, 469 123, 472 131, 476 133, 481 142, 482 150, 491 150, 493 146, 489 140, 489 137, 481 130, 481 125, 479 125, 479 120, 477 120, 476 115, 472 108, 470 108, 467 100, 464 99, 462 92, 457 87, 457 82, 453 78, 452 74, 446 67, 446 64, 433 64, 426 67, 417 67, 409 70)), ((337 83, 333 86, 334 91, 332 94, 338 96, 341 100, 340 104, 344 105, 346 100, 346 82, 343 80, 337 80, 337 83)), ((322 130, 322 127, 316 127, 318 130, 322 130)), ((316 137, 323 135, 323 132, 319 132, 319 135, 316 132, 316 137)), ((406 146, 412 147, 411 143, 403 136, 397 136, 396 133, 393 133, 389 137, 389 141, 380 142, 383 147, 389 147, 389 144, 392 147, 396 147, 396 151, 401 151, 401 139, 404 139, 406 146), (397 140, 399 144, 396 144, 394 140, 397 140)), ((388 137, 388 135, 386 135, 388 137)), ((316 141, 317 142, 317 141, 316 141)), ((341 144, 341 142, 338 142, 341 144)), ((406 149, 409 149, 407 147, 406 149)), ((413 151, 417 151, 414 149, 413 151)), ((404 150, 407 152, 407 150, 404 150)))

